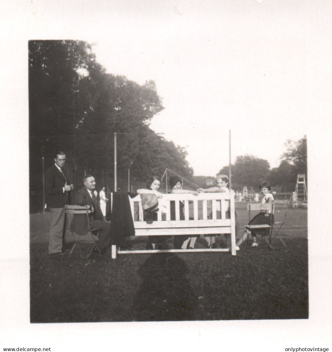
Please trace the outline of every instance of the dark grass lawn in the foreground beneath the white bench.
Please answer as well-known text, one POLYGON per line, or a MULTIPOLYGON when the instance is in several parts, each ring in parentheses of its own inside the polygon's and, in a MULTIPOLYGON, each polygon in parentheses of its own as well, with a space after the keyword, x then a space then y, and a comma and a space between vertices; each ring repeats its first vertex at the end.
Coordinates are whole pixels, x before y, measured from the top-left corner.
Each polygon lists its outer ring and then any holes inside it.
POLYGON ((31 322, 306 319, 307 238, 285 240, 287 251, 250 251, 244 243, 236 256, 152 251, 116 260, 82 259, 76 249, 50 258, 47 242, 32 240, 31 322))

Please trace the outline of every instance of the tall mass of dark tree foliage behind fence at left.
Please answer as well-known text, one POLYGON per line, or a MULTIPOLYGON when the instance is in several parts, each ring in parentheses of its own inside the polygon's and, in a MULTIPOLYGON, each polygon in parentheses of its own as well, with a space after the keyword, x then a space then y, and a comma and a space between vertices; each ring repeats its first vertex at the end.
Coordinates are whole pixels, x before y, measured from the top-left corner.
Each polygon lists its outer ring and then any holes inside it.
POLYGON ((77 168, 112 172, 116 132, 118 177, 128 168, 138 180, 165 168, 192 176, 185 149, 149 128, 164 109, 153 81, 107 74, 82 41, 30 41, 28 50, 30 167, 62 149, 77 168))

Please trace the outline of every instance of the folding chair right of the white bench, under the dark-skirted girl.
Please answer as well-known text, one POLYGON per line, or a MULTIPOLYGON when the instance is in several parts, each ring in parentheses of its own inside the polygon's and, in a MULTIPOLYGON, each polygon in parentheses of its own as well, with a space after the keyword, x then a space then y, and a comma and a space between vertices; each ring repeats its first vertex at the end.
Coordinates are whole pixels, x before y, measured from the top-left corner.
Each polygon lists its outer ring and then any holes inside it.
MULTIPOLYGON (((268 250, 270 248, 273 249, 271 244, 271 236, 272 236, 272 229, 273 229, 273 212, 274 212, 274 202, 272 203, 250 203, 248 204, 248 211, 249 211, 249 224, 245 226, 245 230, 247 231, 248 235, 248 245, 250 246, 249 241, 249 234, 255 233, 256 235, 261 236, 258 245, 261 243, 262 240, 265 240, 268 243, 268 250), (252 217, 252 212, 258 211, 258 213, 252 217), (260 215, 262 214, 262 215, 260 215), (256 223, 254 219, 261 220, 261 223, 256 223), (251 224, 254 222, 254 224, 251 224), (269 240, 267 240, 267 238, 269 240)), ((251 247, 250 247, 251 249, 251 247)))

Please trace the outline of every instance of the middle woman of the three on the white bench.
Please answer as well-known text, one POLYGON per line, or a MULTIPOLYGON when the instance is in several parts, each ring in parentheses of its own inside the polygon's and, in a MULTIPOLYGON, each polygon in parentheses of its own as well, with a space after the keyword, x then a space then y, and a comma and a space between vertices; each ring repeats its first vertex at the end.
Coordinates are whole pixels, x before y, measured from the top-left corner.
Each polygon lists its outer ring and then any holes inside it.
MULTIPOLYGON (((178 176, 171 176, 170 180, 168 181, 170 184, 170 187, 172 188, 168 193, 172 194, 179 194, 179 193, 191 193, 195 196, 198 195, 198 192, 196 191, 191 191, 189 189, 182 189, 183 186, 183 181, 180 177, 178 176)), ((184 213, 183 213, 183 208, 184 208, 184 202, 180 201, 180 220, 184 220, 184 213)), ((175 220, 175 201, 170 202, 170 210, 171 210, 171 220, 175 220)), ((195 245, 195 241, 197 239, 197 236, 182 236, 182 235, 175 235, 174 236, 174 248, 175 249, 187 249, 187 246, 189 244, 189 248, 193 249, 195 245), (190 241, 190 243, 189 243, 190 241)))

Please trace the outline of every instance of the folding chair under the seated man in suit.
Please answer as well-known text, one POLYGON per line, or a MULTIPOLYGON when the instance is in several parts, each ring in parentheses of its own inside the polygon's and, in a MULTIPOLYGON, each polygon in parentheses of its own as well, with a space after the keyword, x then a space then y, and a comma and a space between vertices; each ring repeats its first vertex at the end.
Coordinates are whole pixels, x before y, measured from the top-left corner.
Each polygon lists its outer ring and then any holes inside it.
POLYGON ((95 230, 91 230, 91 226, 90 226, 90 219, 89 219, 89 214, 91 213, 90 210, 90 205, 85 205, 85 206, 79 206, 79 205, 65 205, 65 211, 66 211, 66 215, 67 215, 67 219, 68 219, 68 225, 69 225, 69 230, 72 234, 73 239, 75 240, 74 245, 72 246, 69 256, 71 255, 71 253, 74 251, 74 248, 76 246, 77 243, 81 244, 81 243, 90 243, 92 244, 91 248, 88 250, 88 254, 87 255, 82 255, 82 249, 80 249, 80 256, 82 258, 88 258, 90 257, 92 251, 96 248, 97 251, 99 252, 99 254, 101 254, 99 247, 98 247, 98 238, 99 238, 99 233, 100 230, 95 229, 95 230), (72 227, 71 227, 71 222, 72 219, 75 215, 79 215, 79 214, 86 214, 87 215, 87 220, 88 220, 88 226, 89 226, 89 232, 87 234, 79 234, 76 233, 72 227))

